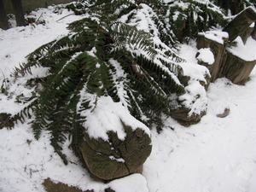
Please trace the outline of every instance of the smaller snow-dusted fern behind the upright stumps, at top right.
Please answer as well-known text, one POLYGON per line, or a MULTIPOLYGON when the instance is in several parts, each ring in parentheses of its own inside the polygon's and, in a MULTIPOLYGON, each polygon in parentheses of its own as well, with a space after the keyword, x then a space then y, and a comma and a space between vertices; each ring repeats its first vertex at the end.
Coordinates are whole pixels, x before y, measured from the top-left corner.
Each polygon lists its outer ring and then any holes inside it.
POLYGON ((226 20, 221 9, 211 1, 183 0, 183 3, 170 1, 166 11, 157 19, 161 26, 170 28, 173 39, 170 41, 175 46, 175 40, 186 42, 186 39, 196 38, 198 32, 208 31, 211 27, 224 26, 226 20))

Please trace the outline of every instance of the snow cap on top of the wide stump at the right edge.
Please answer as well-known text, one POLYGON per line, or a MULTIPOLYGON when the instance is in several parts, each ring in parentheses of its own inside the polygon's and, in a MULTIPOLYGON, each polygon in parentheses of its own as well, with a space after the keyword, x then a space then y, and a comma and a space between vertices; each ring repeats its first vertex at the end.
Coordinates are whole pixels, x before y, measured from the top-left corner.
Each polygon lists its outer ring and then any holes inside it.
POLYGON ((256 41, 249 37, 247 38, 247 43, 243 44, 241 37, 238 36, 235 39, 236 46, 230 46, 227 50, 237 57, 241 58, 243 61, 256 61, 255 47, 256 41))

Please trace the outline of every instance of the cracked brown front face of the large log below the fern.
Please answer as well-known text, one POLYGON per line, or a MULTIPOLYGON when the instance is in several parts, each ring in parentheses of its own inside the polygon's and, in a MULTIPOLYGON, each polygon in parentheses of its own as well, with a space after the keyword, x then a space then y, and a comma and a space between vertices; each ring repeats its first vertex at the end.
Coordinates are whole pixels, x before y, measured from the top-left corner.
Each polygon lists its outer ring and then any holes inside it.
POLYGON ((84 131, 84 142, 79 150, 88 170, 103 180, 141 173, 143 163, 151 153, 151 139, 143 129, 133 130, 124 122, 122 125, 126 133, 124 140, 120 140, 114 131, 107 132, 108 141, 91 138, 84 131))

